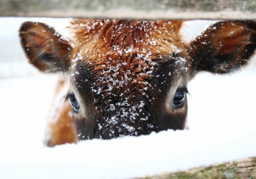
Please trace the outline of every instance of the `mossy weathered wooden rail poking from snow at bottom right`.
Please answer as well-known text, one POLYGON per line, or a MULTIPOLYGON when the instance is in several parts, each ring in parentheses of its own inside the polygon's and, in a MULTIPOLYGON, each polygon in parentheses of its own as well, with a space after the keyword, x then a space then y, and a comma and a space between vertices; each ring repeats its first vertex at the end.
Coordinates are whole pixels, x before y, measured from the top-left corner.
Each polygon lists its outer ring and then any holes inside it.
POLYGON ((165 179, 165 178, 256 178, 256 157, 247 158, 228 163, 211 165, 209 167, 193 168, 186 171, 164 173, 147 176, 141 179, 165 179))

